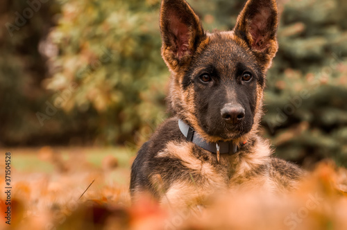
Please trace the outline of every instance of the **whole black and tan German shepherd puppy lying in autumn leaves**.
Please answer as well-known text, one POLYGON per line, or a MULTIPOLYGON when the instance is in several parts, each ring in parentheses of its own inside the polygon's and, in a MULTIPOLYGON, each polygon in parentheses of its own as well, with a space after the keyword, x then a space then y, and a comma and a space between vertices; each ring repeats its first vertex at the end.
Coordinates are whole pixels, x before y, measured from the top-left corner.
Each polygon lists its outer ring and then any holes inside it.
POLYGON ((248 0, 231 31, 208 33, 184 0, 163 0, 162 57, 171 71, 174 114, 142 145, 130 194, 162 204, 203 204, 239 188, 295 188, 301 169, 271 157, 257 134, 265 75, 276 55, 276 0, 248 0))

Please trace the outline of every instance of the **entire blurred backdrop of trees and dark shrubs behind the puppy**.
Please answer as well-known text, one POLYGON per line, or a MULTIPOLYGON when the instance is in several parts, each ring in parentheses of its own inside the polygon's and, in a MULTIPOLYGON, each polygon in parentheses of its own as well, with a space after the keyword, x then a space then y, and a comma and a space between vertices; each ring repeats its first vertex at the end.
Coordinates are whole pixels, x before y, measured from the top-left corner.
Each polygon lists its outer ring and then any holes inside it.
MULTIPOLYGON (((190 0, 207 30, 244 0, 190 0)), ((278 0, 262 135, 310 168, 347 166, 347 1, 278 0)), ((159 0, 1 0, 0 147, 127 148, 168 116, 159 0)))

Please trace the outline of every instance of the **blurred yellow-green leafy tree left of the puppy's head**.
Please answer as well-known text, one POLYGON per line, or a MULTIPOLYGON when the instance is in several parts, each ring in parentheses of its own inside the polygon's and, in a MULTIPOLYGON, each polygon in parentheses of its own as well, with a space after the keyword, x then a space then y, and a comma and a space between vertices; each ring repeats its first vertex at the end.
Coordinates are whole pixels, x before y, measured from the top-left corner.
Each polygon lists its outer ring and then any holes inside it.
POLYGON ((96 109, 103 143, 129 140, 164 116, 169 73, 160 56, 158 8, 159 1, 69 1, 51 33, 60 52, 51 57, 58 71, 47 87, 76 84, 62 107, 96 109))

